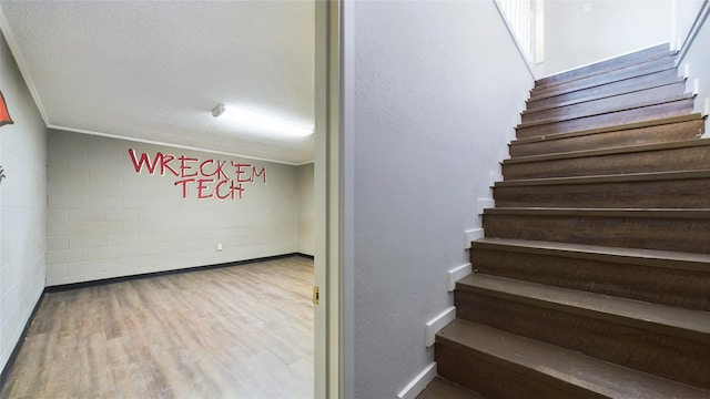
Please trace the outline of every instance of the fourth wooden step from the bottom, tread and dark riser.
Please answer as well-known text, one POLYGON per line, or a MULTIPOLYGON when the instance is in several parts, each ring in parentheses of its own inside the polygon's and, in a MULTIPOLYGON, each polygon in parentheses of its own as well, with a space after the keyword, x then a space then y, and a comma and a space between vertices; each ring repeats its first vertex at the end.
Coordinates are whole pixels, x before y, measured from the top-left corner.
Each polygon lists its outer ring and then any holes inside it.
POLYGON ((487 208, 486 237, 710 254, 710 209, 487 208))

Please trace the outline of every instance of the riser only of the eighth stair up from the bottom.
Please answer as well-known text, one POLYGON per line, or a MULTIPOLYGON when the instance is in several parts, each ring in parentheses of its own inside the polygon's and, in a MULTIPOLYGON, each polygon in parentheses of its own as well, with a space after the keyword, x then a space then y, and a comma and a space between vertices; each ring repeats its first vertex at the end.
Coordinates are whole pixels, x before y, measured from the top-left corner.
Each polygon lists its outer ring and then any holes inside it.
POLYGON ((643 106, 627 111, 619 111, 601 115, 579 117, 555 123, 546 123, 532 126, 518 126, 516 136, 518 139, 539 137, 550 134, 571 133, 590 129, 607 127, 625 123, 647 121, 649 119, 661 119, 686 115, 692 112, 692 99, 684 99, 663 104, 643 106))

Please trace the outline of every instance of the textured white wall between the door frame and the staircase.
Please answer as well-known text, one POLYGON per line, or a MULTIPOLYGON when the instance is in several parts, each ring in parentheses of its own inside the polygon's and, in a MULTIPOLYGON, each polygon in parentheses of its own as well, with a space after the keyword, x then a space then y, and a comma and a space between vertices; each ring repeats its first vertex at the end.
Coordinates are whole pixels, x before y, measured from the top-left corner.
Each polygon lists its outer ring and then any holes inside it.
POLYGON ((493 1, 345 12, 345 396, 394 398, 433 361, 425 324, 453 305, 532 78, 493 1))

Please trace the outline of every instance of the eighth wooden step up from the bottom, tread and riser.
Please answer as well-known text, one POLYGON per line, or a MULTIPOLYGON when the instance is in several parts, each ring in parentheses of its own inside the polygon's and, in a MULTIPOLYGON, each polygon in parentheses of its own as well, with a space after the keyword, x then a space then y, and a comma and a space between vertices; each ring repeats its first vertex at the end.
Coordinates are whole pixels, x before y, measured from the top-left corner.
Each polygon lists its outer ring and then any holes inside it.
POLYGON ((517 139, 547 136, 557 133, 570 133, 581 130, 607 127, 651 119, 671 117, 692 113, 693 98, 681 95, 666 101, 640 101, 639 103, 611 112, 598 114, 577 114, 551 117, 516 127, 517 139))

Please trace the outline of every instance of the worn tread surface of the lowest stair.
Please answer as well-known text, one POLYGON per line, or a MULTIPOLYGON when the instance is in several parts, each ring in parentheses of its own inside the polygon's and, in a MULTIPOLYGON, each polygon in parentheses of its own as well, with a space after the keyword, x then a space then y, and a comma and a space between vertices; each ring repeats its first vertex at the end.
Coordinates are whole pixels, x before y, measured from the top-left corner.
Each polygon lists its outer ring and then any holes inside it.
POLYGON ((463 351, 486 355, 516 369, 530 369, 610 398, 710 398, 710 392, 594 359, 579 352, 455 319, 437 334, 463 351))

